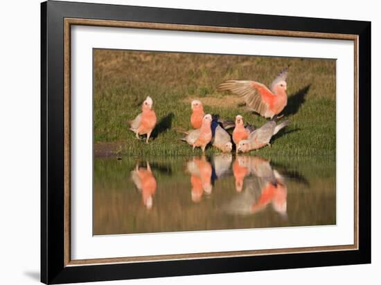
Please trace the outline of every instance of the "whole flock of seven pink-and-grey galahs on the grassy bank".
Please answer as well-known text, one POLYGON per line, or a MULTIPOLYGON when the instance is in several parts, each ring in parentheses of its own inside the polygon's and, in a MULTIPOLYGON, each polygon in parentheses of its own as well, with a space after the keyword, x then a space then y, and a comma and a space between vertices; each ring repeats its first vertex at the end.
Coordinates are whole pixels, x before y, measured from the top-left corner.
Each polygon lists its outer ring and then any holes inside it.
MULTIPOLYGON (((260 149, 270 145, 272 136, 281 129, 290 124, 285 120, 277 125, 276 121, 283 116, 278 116, 287 105, 287 77, 288 67, 283 69, 270 84, 268 89, 264 84, 249 80, 227 80, 218 86, 219 91, 230 91, 239 95, 251 111, 255 111, 260 116, 271 118, 269 122, 262 127, 255 129, 251 125, 245 126, 241 115, 236 116, 234 125, 224 124, 223 120, 204 113, 204 107, 200 100, 191 102, 192 115, 190 116, 190 125, 193 127, 190 131, 182 131, 186 134, 184 140, 191 145, 193 149, 200 147, 202 152, 207 145, 220 149, 222 152, 231 152, 233 143, 236 146, 236 152, 248 152, 254 149, 260 149), (227 129, 234 127, 232 135, 227 129), (233 142, 232 142, 233 140, 233 142)), ((134 131, 136 138, 141 135, 147 135, 146 143, 157 123, 157 116, 152 109, 153 100, 148 96, 142 105, 142 113, 130 121, 130 130, 134 131)))

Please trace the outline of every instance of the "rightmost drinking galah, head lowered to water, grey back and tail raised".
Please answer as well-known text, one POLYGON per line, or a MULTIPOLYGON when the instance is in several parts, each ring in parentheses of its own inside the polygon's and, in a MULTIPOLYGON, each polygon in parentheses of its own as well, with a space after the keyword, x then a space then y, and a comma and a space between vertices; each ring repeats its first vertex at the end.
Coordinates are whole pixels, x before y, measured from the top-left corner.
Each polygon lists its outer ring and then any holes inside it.
POLYGON ((281 129, 290 125, 289 120, 285 120, 281 122, 279 125, 276 125, 276 120, 273 118, 265 125, 253 131, 247 140, 241 140, 238 143, 237 151, 239 152, 247 152, 253 149, 260 149, 261 147, 265 147, 266 145, 270 145, 270 140, 272 136, 278 133, 281 129))

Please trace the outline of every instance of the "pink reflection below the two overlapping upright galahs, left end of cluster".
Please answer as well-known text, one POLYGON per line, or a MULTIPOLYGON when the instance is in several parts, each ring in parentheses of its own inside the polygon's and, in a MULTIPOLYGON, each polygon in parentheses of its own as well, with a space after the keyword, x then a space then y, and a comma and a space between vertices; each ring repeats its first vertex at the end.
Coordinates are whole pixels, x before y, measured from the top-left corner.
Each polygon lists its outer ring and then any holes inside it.
POLYGON ((194 157, 186 163, 186 171, 190 173, 192 201, 199 202, 203 194, 211 194, 212 166, 206 156, 194 157))

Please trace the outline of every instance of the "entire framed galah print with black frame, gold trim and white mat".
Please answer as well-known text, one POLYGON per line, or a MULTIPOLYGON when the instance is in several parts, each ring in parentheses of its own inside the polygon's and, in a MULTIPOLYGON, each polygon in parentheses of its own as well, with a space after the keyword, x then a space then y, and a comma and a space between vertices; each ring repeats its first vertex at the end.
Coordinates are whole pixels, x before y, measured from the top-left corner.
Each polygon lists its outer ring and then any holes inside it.
POLYGON ((42 3, 42 282, 371 262, 371 23, 42 3))

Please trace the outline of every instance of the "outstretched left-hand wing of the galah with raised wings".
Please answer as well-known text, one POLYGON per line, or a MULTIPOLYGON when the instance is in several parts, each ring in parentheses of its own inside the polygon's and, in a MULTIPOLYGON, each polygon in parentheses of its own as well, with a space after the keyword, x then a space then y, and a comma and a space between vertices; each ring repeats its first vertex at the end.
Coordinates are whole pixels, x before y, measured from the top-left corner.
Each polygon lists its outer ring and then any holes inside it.
POLYGON ((227 80, 218 86, 219 91, 231 91, 245 100, 247 106, 265 116, 274 94, 261 83, 249 80, 227 80))

